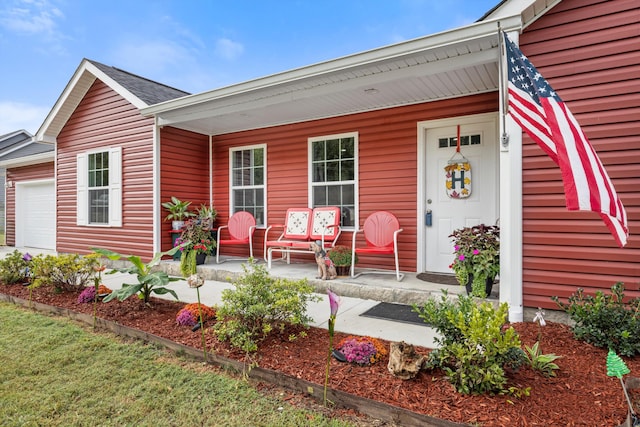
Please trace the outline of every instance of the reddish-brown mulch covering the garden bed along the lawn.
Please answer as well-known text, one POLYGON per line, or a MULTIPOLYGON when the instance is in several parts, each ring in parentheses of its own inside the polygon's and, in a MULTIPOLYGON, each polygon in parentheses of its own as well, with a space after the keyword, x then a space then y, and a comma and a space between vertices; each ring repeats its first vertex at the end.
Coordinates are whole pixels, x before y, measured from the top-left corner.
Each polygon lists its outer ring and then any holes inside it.
MULTIPOLYGON (((29 299, 28 289, 20 285, 1 286, 0 292, 29 299)), ((42 288, 34 290, 32 298, 44 304, 93 313, 93 305, 78 304, 77 295, 74 294, 55 294, 50 289, 42 288)), ((137 298, 130 298, 124 302, 98 304, 98 316, 200 349, 201 332, 194 333, 175 322, 176 313, 183 306, 184 303, 154 299, 152 308, 149 308, 137 298)), ((523 344, 532 346, 537 340, 536 323, 516 323, 513 326, 523 344)), ((607 351, 575 340, 570 328, 560 323, 549 322, 542 333, 543 352, 562 356, 556 361, 560 370, 555 378, 545 378, 529 368, 509 374, 510 386, 531 388, 528 397, 462 395, 453 389, 440 372, 423 371, 417 378, 403 381, 388 373, 386 358, 369 367, 332 360, 330 387, 431 417, 483 427, 621 424, 627 416, 627 404, 620 380, 607 376, 607 351)), ((327 331, 310 328, 307 334, 307 338, 293 342, 286 339, 287 332, 283 336, 268 338, 257 354, 259 366, 323 385, 327 331)), ((241 353, 219 343, 211 332, 206 337, 209 351, 213 348, 218 355, 243 359, 241 353)), ((335 342, 344 337, 344 334, 337 333, 335 342)), ((388 346, 388 343, 385 344, 388 346)), ((417 350, 422 354, 428 353, 424 348, 417 350)), ((632 375, 638 376, 640 357, 623 359, 632 375)))

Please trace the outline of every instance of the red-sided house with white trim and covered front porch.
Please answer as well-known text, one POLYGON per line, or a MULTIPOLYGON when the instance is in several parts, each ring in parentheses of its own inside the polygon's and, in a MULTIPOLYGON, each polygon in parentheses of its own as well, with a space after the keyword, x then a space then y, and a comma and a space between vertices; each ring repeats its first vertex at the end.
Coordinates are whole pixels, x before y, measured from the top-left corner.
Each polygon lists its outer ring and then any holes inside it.
MULTIPOLYGON (((287 208, 332 204, 342 209, 345 244, 371 212, 393 212, 408 272, 450 272, 452 230, 499 220, 500 299, 513 320, 523 307, 555 307, 550 296, 577 287, 622 281, 629 296, 640 296, 639 16, 634 0, 507 0, 451 31, 209 92, 167 88, 156 100, 132 97, 131 87, 119 90, 122 82, 83 62, 36 135, 57 148, 56 249, 166 250, 170 226, 160 203, 171 196, 211 201, 222 223, 251 211, 261 226, 257 247, 287 208), (598 152, 627 210, 624 249, 597 214, 566 210, 558 167, 501 113, 499 28, 598 152), (98 75, 82 78, 92 71, 98 75), (473 165, 465 199, 448 197, 443 172, 458 127, 473 165), (102 193, 107 209, 102 194, 95 211, 87 205, 83 171, 100 169, 91 156, 115 165, 102 193)), ((379 257, 358 265, 393 268, 379 257)))

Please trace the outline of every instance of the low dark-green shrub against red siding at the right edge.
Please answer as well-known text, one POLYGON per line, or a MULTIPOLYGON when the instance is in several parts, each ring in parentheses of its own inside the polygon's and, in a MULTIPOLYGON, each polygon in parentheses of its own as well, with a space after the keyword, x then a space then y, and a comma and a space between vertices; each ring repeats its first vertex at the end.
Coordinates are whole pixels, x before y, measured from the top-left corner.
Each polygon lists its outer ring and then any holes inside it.
POLYGON ((623 356, 640 354, 640 298, 623 302, 622 282, 611 287, 611 294, 596 291, 591 296, 579 288, 568 303, 557 296, 551 299, 575 322, 573 334, 577 339, 623 356))

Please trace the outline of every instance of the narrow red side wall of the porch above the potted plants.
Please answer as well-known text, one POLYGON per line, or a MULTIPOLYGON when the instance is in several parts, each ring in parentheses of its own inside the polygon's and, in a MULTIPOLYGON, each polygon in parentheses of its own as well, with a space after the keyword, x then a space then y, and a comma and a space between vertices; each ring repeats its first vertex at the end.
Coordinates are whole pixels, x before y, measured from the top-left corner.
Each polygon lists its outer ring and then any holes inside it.
MULTIPOLYGON (((160 131, 160 200, 175 196, 191 209, 209 204, 209 137, 164 127, 160 131)), ((217 206, 216 206, 217 207, 217 206)), ((168 212, 161 208, 161 220, 168 212)), ((171 249, 171 222, 162 222, 162 250, 171 249)))

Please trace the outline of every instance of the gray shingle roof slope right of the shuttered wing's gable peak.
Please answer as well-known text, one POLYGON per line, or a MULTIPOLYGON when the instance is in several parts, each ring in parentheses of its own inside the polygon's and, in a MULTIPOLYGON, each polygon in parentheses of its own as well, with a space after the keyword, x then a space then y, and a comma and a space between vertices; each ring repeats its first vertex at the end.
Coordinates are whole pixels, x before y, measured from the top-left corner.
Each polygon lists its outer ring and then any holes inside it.
POLYGON ((89 62, 121 84, 129 92, 140 98, 147 105, 158 104, 160 102, 190 95, 189 92, 175 89, 170 86, 163 85, 162 83, 154 82, 153 80, 145 79, 144 77, 131 74, 116 67, 111 67, 91 60, 89 60, 89 62))

